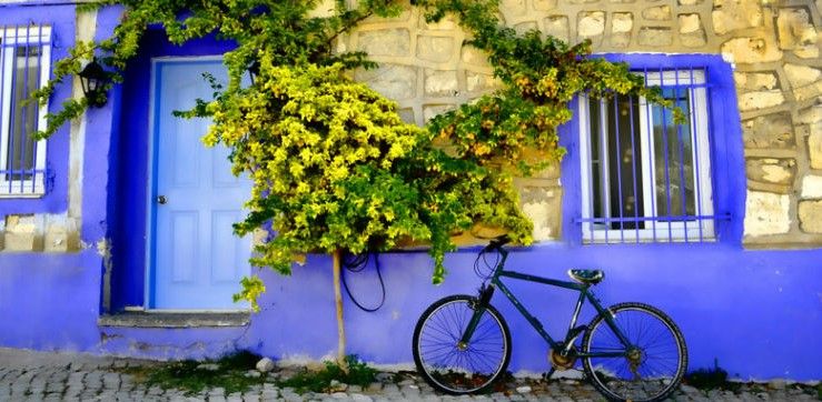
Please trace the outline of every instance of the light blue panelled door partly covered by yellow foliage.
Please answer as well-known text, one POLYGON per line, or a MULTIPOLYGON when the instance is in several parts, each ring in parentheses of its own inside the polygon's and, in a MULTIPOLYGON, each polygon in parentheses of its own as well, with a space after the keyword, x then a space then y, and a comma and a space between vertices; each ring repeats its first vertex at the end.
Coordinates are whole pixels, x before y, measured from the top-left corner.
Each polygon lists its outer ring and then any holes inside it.
POLYGON ((211 99, 204 79, 227 81, 219 60, 160 60, 153 64, 152 281, 149 308, 238 310, 231 301, 248 274, 250 239, 231 224, 242 217, 250 181, 231 174, 228 150, 208 149, 200 138, 207 119, 182 119, 195 99, 211 99))

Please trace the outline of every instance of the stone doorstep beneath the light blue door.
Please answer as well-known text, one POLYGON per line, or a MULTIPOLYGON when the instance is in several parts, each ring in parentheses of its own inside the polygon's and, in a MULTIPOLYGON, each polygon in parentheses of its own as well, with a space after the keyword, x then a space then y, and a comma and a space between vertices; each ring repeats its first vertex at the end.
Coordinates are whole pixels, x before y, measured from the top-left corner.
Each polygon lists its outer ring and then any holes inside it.
POLYGON ((101 315, 97 324, 128 328, 246 326, 250 318, 250 312, 122 312, 101 315))

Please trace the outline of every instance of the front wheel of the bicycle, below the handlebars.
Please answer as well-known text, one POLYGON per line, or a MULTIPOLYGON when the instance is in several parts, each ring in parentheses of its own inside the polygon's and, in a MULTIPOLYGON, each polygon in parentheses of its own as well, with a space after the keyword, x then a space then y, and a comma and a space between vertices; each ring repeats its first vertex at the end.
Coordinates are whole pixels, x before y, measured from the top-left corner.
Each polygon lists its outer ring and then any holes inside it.
POLYGON ((425 381, 439 391, 482 391, 508 366, 511 333, 492 305, 482 312, 471 340, 460 343, 477 303, 469 295, 452 295, 432 304, 417 321, 414 362, 425 381))

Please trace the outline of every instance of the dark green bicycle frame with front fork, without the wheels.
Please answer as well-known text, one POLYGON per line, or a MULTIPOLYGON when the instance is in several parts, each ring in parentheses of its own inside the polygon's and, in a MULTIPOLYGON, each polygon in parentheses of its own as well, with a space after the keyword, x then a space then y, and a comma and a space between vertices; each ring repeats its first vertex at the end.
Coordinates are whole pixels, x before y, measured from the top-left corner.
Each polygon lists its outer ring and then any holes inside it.
POLYGON ((585 300, 587 299, 588 302, 596 309, 597 314, 604 316, 605 322, 607 325, 614 331, 614 333, 617 335, 622 344, 625 346, 625 351, 623 352, 601 352, 601 353, 576 353, 577 358, 616 358, 616 356, 626 356, 628 354, 628 351, 633 349, 634 346, 631 344, 631 342, 625 338, 625 335, 622 333, 620 328, 614 322, 614 316, 611 314, 611 312, 602 306, 602 303, 598 299, 596 299, 596 295, 590 290, 591 285, 585 283, 576 283, 576 282, 568 282, 568 281, 559 281, 555 279, 548 279, 537 275, 531 275, 525 274, 516 271, 506 271, 504 269, 505 267, 505 260, 508 258, 508 252, 503 249, 502 247, 497 248, 497 252, 502 255, 499 262, 494 268, 494 272, 492 273, 489 281, 491 284, 488 287, 485 287, 485 283, 483 283, 483 288, 481 288, 479 292, 479 302, 477 303, 476 311, 474 312, 474 315, 472 316, 471 321, 468 322, 468 325, 465 329, 465 333, 463 334, 463 338, 460 339, 460 344, 467 344, 471 341, 471 336, 474 334, 474 330, 476 329, 476 325, 479 323, 479 318, 485 312, 486 306, 491 303, 491 298, 493 297, 494 289, 498 288, 503 294, 514 304, 514 306, 519 311, 519 313, 525 318, 526 321, 531 324, 531 326, 534 328, 534 330, 547 342, 553 350, 559 351, 563 354, 571 351, 571 349, 574 345, 574 341, 576 338, 583 333, 587 326, 581 325, 576 326, 576 320, 580 316, 580 312, 582 311, 582 306, 585 303, 585 300), (555 341, 544 329, 542 321, 539 321, 536 316, 531 314, 528 310, 523 305, 522 302, 519 302, 519 299, 517 299, 514 293, 508 289, 508 287, 505 285, 501 281, 501 278, 512 278, 517 280, 523 280, 527 282, 535 282, 535 283, 542 283, 546 285, 557 287, 557 288, 564 288, 564 289, 571 289, 580 292, 580 298, 576 301, 576 305, 574 308, 574 314, 571 316, 571 324, 568 325, 568 331, 565 333, 565 340, 563 342, 555 341))

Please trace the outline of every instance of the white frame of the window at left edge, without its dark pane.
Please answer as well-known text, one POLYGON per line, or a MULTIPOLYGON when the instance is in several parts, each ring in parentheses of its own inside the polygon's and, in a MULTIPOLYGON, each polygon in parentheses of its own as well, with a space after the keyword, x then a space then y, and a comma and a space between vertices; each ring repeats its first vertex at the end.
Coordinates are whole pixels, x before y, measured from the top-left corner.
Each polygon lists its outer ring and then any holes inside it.
MULTIPOLYGON (((49 81, 51 71, 51 27, 9 27, 0 29, 0 169, 8 165, 8 147, 9 137, 11 134, 11 81, 14 70, 14 61, 17 59, 14 52, 18 46, 37 44, 40 47, 40 88, 44 87, 49 81)), ((46 114, 48 105, 40 105, 38 109, 37 129, 46 128, 46 114)), ((38 171, 46 170, 46 140, 34 143, 37 158, 34 160, 34 169, 38 171)), ((40 198, 46 193, 44 173, 37 173, 31 179, 6 179, 6 174, 0 174, 0 198, 40 198)))

